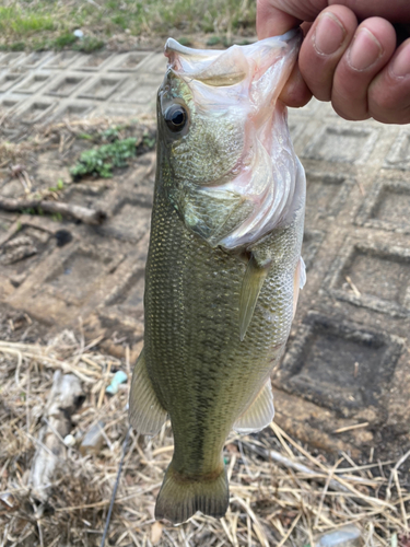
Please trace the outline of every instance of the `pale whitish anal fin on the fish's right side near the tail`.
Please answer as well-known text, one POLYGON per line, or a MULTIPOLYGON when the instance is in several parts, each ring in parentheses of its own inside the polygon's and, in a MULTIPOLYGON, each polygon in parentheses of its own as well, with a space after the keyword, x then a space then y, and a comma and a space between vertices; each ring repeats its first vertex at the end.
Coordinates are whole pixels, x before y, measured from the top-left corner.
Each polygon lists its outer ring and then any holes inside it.
POLYGON ((234 430, 243 434, 260 431, 269 426, 273 416, 272 385, 268 379, 250 407, 236 420, 234 430))

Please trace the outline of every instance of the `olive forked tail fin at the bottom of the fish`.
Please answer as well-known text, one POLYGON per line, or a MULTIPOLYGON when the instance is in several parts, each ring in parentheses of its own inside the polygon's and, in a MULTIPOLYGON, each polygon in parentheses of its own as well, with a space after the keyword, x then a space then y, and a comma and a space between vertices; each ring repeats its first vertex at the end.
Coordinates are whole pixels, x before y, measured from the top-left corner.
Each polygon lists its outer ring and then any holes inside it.
POLYGON ((226 513, 229 502, 230 488, 225 469, 216 478, 191 480, 180 477, 171 463, 156 500, 155 519, 167 519, 173 524, 179 524, 197 511, 221 519, 226 513))

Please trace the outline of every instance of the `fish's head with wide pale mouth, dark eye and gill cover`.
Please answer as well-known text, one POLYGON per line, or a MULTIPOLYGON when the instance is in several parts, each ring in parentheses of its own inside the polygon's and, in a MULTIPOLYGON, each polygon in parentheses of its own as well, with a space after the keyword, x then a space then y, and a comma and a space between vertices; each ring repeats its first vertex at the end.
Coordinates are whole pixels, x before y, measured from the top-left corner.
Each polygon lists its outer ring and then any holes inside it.
POLYGON ((301 39, 291 31, 224 51, 166 43, 162 181, 187 228, 213 247, 249 247, 304 207, 304 172, 278 101, 301 39))

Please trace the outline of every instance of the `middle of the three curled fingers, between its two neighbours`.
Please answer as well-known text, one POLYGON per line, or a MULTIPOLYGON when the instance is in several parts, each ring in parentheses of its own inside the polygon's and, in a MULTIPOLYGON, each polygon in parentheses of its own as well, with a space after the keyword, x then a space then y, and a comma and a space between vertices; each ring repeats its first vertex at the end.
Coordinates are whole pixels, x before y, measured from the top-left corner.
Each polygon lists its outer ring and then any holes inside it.
POLYGON ((335 72, 331 102, 347 119, 370 117, 367 92, 372 80, 390 60, 396 48, 393 25, 380 18, 366 19, 335 72))

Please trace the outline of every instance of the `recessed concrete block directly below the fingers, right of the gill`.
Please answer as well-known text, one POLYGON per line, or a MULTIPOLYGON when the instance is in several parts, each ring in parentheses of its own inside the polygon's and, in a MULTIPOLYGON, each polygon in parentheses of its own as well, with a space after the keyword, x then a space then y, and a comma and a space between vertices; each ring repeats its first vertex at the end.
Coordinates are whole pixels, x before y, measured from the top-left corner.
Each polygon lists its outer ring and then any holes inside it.
POLYGON ((303 152, 304 158, 327 162, 365 163, 376 143, 376 129, 325 126, 303 152))

